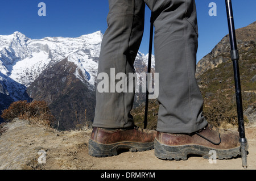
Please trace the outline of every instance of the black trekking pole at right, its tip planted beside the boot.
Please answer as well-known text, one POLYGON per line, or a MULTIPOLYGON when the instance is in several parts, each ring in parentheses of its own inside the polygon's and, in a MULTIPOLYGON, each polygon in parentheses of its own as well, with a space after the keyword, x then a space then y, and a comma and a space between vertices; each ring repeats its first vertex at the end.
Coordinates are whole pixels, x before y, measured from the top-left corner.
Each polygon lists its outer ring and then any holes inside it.
POLYGON ((231 60, 233 61, 234 82, 236 87, 240 151, 241 151, 241 157, 242 157, 242 166, 244 169, 246 169, 247 168, 247 141, 245 138, 245 125, 243 124, 242 95, 241 95, 240 73, 239 73, 239 65, 238 65, 239 55, 237 50, 236 32, 234 28, 232 2, 231 0, 225 0, 225 1, 226 1, 226 14, 228 17, 228 26, 229 26, 229 38, 230 38, 230 48, 231 48, 230 53, 231 53, 231 60))

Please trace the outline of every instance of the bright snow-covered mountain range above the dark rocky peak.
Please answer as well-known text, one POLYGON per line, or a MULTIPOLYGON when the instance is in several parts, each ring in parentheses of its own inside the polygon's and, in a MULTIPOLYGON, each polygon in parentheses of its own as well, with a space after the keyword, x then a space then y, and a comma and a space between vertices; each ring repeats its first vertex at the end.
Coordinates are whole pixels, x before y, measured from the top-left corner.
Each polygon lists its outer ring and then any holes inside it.
POLYGON ((20 32, 0 36, 0 71, 22 85, 29 86, 51 62, 68 57, 94 83, 100 54, 100 31, 76 38, 45 37, 29 39, 20 32))

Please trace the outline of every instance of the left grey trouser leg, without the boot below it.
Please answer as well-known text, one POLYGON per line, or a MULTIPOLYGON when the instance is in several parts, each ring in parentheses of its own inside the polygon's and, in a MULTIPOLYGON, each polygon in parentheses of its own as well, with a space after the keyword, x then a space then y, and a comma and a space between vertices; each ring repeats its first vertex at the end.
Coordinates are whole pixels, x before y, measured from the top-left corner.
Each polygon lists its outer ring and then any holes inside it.
MULTIPOLYGON (((143 0, 109 0, 108 28, 101 44, 98 74, 109 76, 109 91, 101 92, 97 80, 96 109, 93 121, 94 127, 127 128, 134 125, 130 114, 133 107, 134 92, 117 92, 110 90, 113 85, 110 77, 117 73, 134 73, 134 60, 137 55, 144 28, 143 0), (114 68, 114 69, 113 69, 114 68), (112 70, 112 74, 110 73, 112 70), (112 84, 112 85, 111 85, 112 84)), ((117 79, 116 82, 120 80, 117 79)), ((101 82, 101 83, 100 83, 101 82)), ((106 86, 106 85, 104 85, 106 86)), ((113 87, 112 87, 113 89, 113 87)))

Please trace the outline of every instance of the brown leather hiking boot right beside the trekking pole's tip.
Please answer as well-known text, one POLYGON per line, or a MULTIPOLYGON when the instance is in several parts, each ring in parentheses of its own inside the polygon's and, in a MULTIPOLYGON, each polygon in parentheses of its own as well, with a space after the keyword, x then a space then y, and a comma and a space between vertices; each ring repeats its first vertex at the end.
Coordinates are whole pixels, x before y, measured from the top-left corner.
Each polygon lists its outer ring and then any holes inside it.
POLYGON ((216 151, 217 159, 228 159, 240 155, 238 132, 220 132, 212 125, 192 134, 158 132, 155 138, 155 155, 160 159, 187 159, 189 154, 201 155, 205 159, 216 151))

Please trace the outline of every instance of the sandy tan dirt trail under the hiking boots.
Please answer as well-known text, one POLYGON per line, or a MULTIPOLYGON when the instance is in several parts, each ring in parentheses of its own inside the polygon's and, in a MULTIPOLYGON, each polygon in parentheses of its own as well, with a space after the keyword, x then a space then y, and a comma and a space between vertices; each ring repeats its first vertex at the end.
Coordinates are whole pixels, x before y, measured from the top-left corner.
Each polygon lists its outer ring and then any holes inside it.
MULTIPOLYGON (((94 158, 88 155, 88 140, 92 129, 56 132, 35 127, 26 120, 14 119, 4 125, 0 136, 0 169, 86 169, 86 170, 242 170, 241 158, 218 160, 191 156, 187 161, 165 161, 154 150, 123 152, 115 157, 94 158), (46 153, 46 163, 39 163, 39 150, 46 153)), ((256 127, 246 127, 249 142, 248 169, 256 169, 256 127)), ((43 161, 43 159, 39 159, 43 161)))

